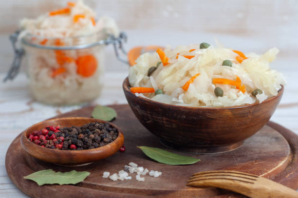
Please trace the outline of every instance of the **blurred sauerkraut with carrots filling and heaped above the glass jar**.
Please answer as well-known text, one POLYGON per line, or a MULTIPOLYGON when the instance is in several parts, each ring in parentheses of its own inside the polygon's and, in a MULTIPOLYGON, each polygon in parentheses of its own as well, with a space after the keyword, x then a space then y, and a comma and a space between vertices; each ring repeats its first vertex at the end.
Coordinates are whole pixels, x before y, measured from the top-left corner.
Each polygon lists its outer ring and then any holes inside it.
POLYGON ((19 39, 26 52, 35 99, 61 105, 99 96, 105 45, 92 44, 119 35, 112 18, 96 20, 93 10, 77 1, 35 19, 25 18, 20 26, 19 39))

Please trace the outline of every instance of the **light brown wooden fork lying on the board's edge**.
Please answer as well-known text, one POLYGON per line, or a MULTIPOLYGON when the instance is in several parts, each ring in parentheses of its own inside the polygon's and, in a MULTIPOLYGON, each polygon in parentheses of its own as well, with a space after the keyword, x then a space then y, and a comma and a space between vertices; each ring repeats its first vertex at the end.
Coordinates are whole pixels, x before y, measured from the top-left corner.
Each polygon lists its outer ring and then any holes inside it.
POLYGON ((192 175, 188 186, 218 187, 251 198, 298 198, 298 192, 277 182, 248 173, 217 170, 192 175))

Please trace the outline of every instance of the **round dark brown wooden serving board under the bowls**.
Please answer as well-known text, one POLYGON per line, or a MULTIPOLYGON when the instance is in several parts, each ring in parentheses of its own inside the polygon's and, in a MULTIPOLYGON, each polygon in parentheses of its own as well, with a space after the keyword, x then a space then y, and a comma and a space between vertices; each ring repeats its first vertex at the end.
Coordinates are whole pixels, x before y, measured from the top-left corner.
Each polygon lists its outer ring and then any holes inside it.
MULTIPOLYGON (((298 136, 273 122, 268 122, 258 133, 247 139, 242 147, 219 154, 186 154, 165 148, 152 133, 136 119, 129 105, 113 105, 117 118, 112 121, 124 133, 125 152, 94 162, 91 165, 64 167, 38 161, 20 146, 20 135, 12 142, 6 153, 5 165, 10 179, 18 188, 31 197, 38 198, 98 198, 98 197, 204 197, 240 198, 242 195, 216 188, 186 186, 187 179, 196 172, 208 170, 236 170, 259 175, 277 181, 290 188, 298 188, 298 136), (194 165, 164 165, 149 159, 136 146, 163 148, 178 154, 201 159, 194 165), (117 173, 124 165, 134 162, 149 170, 162 171, 158 178, 145 176, 145 181, 112 181, 102 178, 104 171, 117 173), (35 171, 89 171, 90 176, 76 185, 43 185, 25 180, 35 171)), ((93 107, 85 107, 58 117, 90 117, 93 107)))

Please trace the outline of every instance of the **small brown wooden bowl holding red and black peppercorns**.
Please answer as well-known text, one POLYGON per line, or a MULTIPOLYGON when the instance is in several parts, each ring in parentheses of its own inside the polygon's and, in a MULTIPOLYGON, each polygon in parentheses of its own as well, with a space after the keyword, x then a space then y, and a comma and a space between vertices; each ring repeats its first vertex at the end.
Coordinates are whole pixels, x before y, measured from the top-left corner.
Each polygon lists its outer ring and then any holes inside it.
POLYGON ((28 154, 39 160, 54 163, 57 165, 84 165, 107 158, 117 152, 123 145, 123 142, 124 136, 119 127, 110 122, 89 117, 65 117, 45 120, 29 127, 21 135, 21 146, 28 154), (117 128, 118 137, 113 142, 103 147, 86 150, 58 150, 52 148, 44 148, 34 144, 27 138, 28 135, 33 131, 39 131, 46 126, 60 125, 60 127, 63 128, 71 126, 82 126, 90 122, 109 123, 114 128, 117 128))

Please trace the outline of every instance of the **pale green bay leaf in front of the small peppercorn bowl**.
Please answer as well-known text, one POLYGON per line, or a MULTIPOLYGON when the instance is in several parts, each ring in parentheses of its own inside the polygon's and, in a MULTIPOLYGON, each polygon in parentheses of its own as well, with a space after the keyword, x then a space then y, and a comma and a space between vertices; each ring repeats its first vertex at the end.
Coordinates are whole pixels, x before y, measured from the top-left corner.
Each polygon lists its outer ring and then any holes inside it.
POLYGON ((85 178, 90 175, 90 172, 82 171, 77 172, 75 170, 69 172, 55 172, 52 169, 40 170, 24 177, 24 179, 37 182, 38 185, 43 184, 76 184, 84 181, 85 178))

